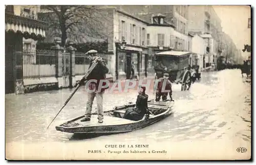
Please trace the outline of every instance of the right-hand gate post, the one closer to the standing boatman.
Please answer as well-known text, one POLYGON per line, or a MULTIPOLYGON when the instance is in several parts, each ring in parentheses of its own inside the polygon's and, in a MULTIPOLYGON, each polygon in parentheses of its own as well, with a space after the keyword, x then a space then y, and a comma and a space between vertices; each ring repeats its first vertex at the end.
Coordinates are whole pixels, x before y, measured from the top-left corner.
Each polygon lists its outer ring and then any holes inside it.
POLYGON ((69 43, 70 46, 68 48, 68 51, 70 52, 70 75, 69 75, 69 87, 75 87, 76 86, 76 73, 75 73, 75 56, 76 56, 76 48, 72 46, 73 42, 69 43))

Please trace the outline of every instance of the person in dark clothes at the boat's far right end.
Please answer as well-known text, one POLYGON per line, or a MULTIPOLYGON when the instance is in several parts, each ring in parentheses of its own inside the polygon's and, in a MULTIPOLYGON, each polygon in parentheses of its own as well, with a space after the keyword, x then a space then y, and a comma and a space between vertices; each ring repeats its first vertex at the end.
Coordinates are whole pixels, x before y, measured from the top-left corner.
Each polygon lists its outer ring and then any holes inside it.
POLYGON ((172 83, 169 80, 169 74, 165 73, 164 77, 160 78, 159 80, 160 80, 160 82, 158 82, 157 91, 156 91, 156 101, 157 102, 160 101, 161 97, 162 97, 163 101, 167 100, 168 93, 162 92, 162 88, 164 90, 169 90, 169 97, 170 97, 170 100, 172 101, 173 100, 173 98, 172 98, 173 91, 172 91, 172 83), (163 87, 164 81, 166 81, 165 87, 163 87))

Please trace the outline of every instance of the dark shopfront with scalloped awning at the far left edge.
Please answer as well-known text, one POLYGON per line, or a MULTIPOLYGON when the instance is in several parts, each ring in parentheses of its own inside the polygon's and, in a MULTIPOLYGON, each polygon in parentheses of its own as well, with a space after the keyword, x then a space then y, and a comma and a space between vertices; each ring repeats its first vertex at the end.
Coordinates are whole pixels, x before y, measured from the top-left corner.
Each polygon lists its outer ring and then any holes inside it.
POLYGON ((24 88, 23 53, 33 49, 45 37, 47 23, 37 20, 38 8, 7 5, 5 9, 6 93, 20 93, 24 88))

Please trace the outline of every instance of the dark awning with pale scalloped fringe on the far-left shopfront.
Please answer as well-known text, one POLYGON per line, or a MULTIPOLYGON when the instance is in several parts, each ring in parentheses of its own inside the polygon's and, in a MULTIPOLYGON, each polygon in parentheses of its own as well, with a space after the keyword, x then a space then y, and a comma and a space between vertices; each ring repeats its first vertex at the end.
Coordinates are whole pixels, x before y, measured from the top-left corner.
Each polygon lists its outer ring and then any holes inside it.
POLYGON ((47 23, 35 19, 20 17, 13 14, 5 14, 5 30, 20 31, 22 33, 46 36, 47 23))

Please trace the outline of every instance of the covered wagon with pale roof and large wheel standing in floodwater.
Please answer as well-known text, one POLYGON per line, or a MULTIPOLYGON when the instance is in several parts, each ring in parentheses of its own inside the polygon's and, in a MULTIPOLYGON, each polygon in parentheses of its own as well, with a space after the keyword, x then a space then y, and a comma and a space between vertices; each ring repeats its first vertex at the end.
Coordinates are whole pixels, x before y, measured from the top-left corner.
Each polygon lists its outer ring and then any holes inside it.
POLYGON ((164 73, 169 74, 169 80, 181 84, 181 90, 189 90, 194 82, 193 76, 200 74, 193 72, 189 65, 191 52, 166 51, 155 54, 155 72, 159 79, 164 73))

